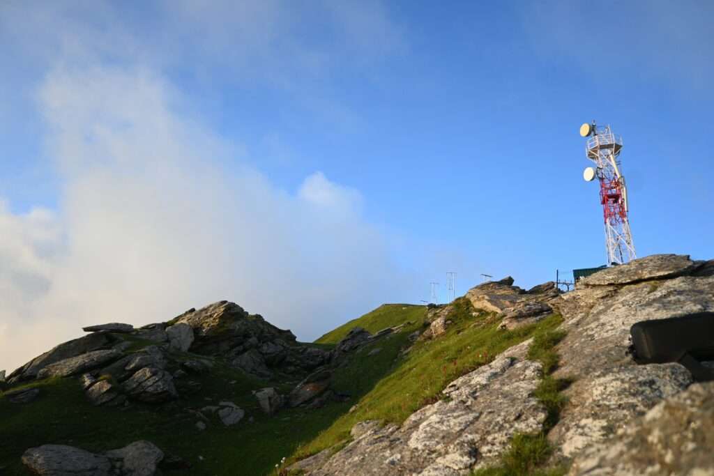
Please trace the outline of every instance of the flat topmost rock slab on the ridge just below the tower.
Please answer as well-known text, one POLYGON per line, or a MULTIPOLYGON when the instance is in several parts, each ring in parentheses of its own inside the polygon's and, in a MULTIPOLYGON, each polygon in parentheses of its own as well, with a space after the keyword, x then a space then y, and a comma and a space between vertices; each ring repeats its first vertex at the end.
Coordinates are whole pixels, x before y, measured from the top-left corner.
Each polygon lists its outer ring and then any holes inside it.
POLYGON ((689 255, 650 255, 630 263, 603 268, 578 281, 580 286, 624 285, 645 280, 675 278, 687 275, 699 267, 689 255))

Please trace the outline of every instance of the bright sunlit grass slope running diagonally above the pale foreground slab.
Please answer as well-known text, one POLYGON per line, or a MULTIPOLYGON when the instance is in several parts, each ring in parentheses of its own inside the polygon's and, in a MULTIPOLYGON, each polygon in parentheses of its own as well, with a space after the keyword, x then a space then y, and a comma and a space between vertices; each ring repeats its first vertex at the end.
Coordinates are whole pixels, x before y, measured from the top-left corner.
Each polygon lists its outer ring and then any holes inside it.
MULTIPOLYGON (((348 440, 350 429, 357 422, 403 422, 414 411, 436 402, 441 390, 452 380, 491 362, 503 350, 526 340, 536 331, 545 333, 562 322, 559 315, 552 315, 516 330, 499 330, 500 321, 492 314, 481 313, 474 317, 473 312, 466 298, 455 300, 449 315, 453 324, 446 335, 418 341, 408 354, 392 364, 392 371, 358 401, 353 412, 342 415, 315 440, 301 446, 291 460, 300 460, 348 440)), ((411 328, 406 329, 400 334, 401 338, 410 332, 411 328)), ((401 342, 396 340, 395 344, 401 342)))

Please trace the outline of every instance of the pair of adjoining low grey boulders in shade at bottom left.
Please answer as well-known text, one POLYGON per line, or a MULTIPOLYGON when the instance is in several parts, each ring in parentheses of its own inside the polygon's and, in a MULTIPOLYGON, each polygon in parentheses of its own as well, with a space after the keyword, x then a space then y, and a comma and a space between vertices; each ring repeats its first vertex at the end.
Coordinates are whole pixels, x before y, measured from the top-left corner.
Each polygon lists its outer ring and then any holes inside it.
POLYGON ((42 476, 152 476, 164 452, 148 441, 137 441, 104 454, 67 445, 30 448, 22 462, 42 476))

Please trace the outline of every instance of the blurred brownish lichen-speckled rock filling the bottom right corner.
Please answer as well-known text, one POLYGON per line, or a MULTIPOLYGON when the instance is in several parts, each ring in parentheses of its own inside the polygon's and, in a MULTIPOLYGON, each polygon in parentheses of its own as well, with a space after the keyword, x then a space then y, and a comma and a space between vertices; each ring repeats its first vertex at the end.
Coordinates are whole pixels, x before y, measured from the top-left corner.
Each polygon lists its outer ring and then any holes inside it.
POLYGON ((714 474, 714 383, 695 383, 655 405, 613 438, 586 447, 570 475, 714 474))

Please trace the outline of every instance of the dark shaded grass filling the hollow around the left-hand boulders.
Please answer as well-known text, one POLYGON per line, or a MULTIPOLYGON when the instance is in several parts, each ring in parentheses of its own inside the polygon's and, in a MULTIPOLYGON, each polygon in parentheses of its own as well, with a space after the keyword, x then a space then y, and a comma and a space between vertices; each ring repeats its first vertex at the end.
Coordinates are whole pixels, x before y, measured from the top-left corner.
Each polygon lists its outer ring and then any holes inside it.
MULTIPOLYGON (((416 325, 421 325, 423 307, 396 305, 382 308, 390 310, 383 317, 391 322, 418 320, 416 325)), ((133 343, 131 350, 150 344, 129 338, 133 343)), ((405 339, 406 335, 401 334, 383 341, 385 345, 381 352, 370 356, 368 365, 348 365, 341 369, 336 375, 336 385, 353 395, 350 401, 333 402, 319 410, 283 409, 275 417, 263 415, 251 390, 275 385, 281 393, 288 393, 294 383, 281 385, 248 378, 220 361, 211 373, 193 378, 203 385, 200 393, 161 406, 135 404, 128 410, 92 407, 76 378, 31 384, 41 388, 42 394, 29 405, 13 405, 0 393, 0 472, 29 475, 20 462, 21 454, 29 447, 54 443, 100 452, 144 439, 191 462, 193 468, 190 471, 177 472, 177 475, 266 475, 281 457, 291 455, 298 445, 313 440, 330 427, 358 398, 384 378, 405 339), (236 383, 229 384, 231 380, 236 383), (226 428, 212 417, 208 429, 200 432, 194 426, 198 419, 182 409, 198 409, 221 400, 231 400, 243 407, 246 420, 226 428), (254 421, 248 422, 248 416, 254 421), (199 460, 199 455, 203 460, 199 460)), ((329 348, 331 344, 316 346, 329 348)), ((175 355, 178 360, 188 356, 175 355)))

